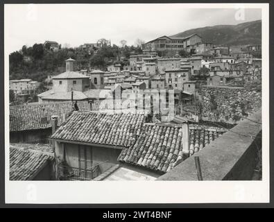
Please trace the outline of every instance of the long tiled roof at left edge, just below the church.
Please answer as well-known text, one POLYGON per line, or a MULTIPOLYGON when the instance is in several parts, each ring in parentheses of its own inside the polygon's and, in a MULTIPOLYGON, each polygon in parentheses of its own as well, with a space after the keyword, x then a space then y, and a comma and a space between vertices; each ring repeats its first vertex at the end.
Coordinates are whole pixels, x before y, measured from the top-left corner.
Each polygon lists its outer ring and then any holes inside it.
MULTIPOLYGON (((78 101, 80 111, 90 110, 87 101, 78 101)), ((10 131, 37 130, 51 127, 51 116, 58 115, 58 125, 73 110, 71 102, 10 106, 10 131), (44 108, 44 111, 43 111, 44 108), (41 121, 46 117, 46 121, 41 121)))

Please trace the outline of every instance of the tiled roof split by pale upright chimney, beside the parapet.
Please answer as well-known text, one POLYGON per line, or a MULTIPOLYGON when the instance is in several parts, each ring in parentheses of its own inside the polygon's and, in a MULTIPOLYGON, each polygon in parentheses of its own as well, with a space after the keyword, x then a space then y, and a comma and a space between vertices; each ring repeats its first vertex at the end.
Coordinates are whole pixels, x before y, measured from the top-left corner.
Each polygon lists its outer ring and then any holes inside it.
MULTIPOLYGON (((191 155, 204 148, 206 144, 219 137, 224 131, 220 128, 189 126, 189 144, 191 155), (213 132, 215 130, 216 132, 213 132)), ((182 128, 145 124, 137 142, 129 148, 123 148, 118 157, 120 162, 147 167, 155 171, 167 172, 183 160, 182 128)))

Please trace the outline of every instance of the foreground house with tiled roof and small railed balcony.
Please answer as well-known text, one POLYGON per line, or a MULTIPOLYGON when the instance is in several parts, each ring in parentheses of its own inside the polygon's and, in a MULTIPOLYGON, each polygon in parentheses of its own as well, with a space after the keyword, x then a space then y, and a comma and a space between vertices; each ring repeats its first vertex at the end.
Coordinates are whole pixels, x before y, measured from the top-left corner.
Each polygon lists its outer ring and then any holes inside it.
POLYGON ((51 136, 58 180, 92 180, 117 165, 121 149, 135 144, 144 121, 144 114, 74 112, 51 136))

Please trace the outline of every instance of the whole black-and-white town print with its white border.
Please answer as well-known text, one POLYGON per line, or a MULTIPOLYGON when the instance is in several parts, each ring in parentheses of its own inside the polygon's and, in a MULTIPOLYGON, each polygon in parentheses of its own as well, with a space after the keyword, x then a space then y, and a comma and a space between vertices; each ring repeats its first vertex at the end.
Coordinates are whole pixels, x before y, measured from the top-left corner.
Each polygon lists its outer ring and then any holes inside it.
POLYGON ((268 203, 268 4, 4 18, 7 203, 268 203))

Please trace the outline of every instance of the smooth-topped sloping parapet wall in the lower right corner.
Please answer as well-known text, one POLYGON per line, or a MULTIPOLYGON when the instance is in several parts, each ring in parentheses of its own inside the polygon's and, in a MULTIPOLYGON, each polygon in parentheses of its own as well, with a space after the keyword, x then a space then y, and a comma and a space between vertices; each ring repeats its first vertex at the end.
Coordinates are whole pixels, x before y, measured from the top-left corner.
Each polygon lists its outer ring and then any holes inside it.
MULTIPOLYGON (((203 180, 262 180, 254 178, 262 161, 262 110, 191 155, 157 180, 198 180, 194 158, 200 157, 203 180), (250 120, 251 121, 250 121, 250 120), (256 123, 257 122, 257 123, 256 123)), ((261 171, 262 173, 262 171, 261 171)))

